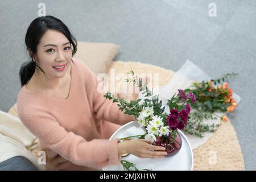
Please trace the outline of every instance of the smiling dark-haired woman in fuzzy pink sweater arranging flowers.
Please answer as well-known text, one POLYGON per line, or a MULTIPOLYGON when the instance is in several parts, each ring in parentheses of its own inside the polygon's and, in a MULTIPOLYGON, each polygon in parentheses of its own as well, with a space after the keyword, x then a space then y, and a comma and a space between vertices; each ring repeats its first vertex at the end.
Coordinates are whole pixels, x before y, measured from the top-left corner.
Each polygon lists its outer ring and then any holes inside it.
POLYGON ((126 153, 139 158, 167 154, 143 139, 108 140, 134 118, 106 100, 96 75, 73 58, 77 43, 61 20, 36 18, 25 42, 31 61, 20 68, 18 115, 56 169, 102 169, 118 164, 126 153))

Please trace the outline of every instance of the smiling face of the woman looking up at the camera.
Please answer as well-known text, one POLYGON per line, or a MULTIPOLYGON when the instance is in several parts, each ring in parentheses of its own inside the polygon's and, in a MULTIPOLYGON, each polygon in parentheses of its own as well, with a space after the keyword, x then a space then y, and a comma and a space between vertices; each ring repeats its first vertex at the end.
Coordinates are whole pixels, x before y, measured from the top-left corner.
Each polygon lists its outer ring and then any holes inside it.
POLYGON ((61 32, 48 30, 36 48, 35 57, 48 78, 62 78, 71 64, 71 44, 61 32))

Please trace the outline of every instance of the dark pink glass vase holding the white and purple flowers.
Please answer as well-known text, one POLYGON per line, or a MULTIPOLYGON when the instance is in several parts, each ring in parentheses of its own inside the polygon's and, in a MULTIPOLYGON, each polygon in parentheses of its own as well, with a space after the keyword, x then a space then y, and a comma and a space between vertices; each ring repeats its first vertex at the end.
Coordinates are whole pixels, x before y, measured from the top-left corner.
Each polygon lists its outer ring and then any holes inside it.
POLYGON ((180 134, 177 132, 175 141, 172 138, 172 136, 169 135, 168 137, 156 137, 156 141, 153 142, 152 144, 156 146, 166 147, 166 156, 174 156, 175 154, 177 154, 177 152, 180 151, 180 148, 182 146, 182 140, 180 134))

